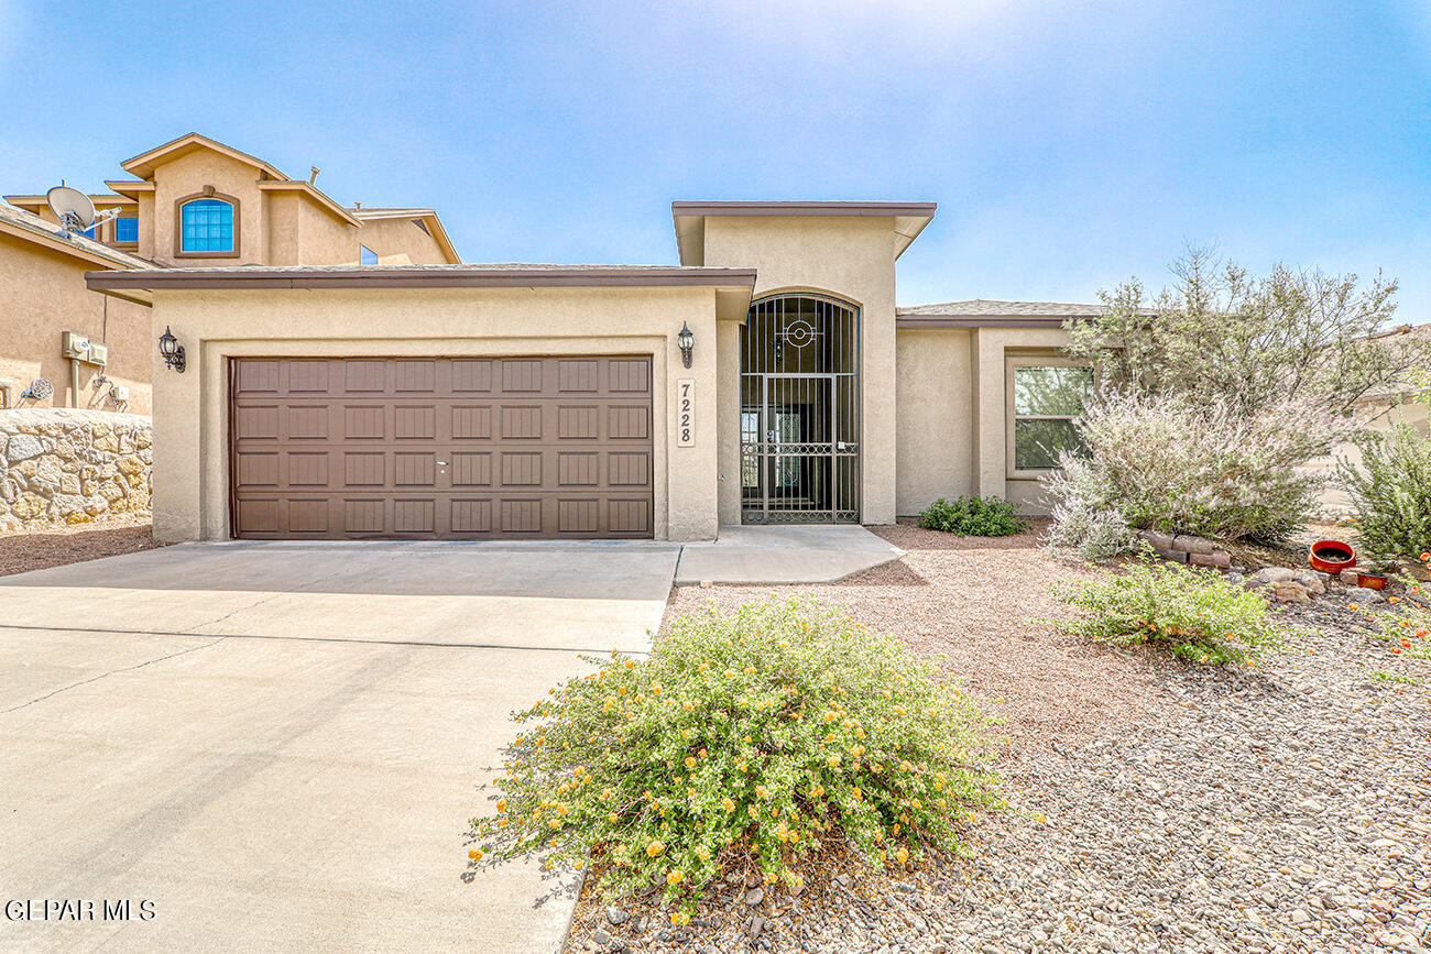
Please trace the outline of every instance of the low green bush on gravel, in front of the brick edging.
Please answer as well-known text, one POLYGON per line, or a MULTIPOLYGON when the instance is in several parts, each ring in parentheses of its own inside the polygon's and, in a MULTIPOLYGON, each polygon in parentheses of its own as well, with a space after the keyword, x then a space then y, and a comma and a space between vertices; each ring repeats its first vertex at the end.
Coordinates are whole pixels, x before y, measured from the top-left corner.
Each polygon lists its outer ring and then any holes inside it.
POLYGON ((1113 645, 1165 642, 1175 655, 1218 665, 1251 665, 1281 648, 1266 601, 1213 569, 1138 564, 1106 579, 1056 588, 1063 602, 1089 614, 1062 622, 1065 632, 1113 645))

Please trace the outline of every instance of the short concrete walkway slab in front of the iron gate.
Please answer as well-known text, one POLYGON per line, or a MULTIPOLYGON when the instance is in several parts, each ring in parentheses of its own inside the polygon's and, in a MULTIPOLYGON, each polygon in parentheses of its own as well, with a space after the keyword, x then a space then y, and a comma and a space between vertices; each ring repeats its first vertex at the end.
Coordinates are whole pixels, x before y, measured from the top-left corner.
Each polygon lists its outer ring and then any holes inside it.
POLYGON ((903 555, 856 525, 723 526, 716 542, 681 548, 675 582, 829 584, 903 555))

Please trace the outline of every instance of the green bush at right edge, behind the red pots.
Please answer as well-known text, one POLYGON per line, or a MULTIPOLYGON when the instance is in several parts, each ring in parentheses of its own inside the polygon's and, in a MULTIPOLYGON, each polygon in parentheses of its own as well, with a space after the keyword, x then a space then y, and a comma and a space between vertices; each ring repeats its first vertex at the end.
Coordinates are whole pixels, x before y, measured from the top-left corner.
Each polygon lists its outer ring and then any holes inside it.
POLYGON ((1388 566, 1431 551, 1431 438, 1400 423, 1355 441, 1361 466, 1342 458, 1337 476, 1351 496, 1362 554, 1388 566))

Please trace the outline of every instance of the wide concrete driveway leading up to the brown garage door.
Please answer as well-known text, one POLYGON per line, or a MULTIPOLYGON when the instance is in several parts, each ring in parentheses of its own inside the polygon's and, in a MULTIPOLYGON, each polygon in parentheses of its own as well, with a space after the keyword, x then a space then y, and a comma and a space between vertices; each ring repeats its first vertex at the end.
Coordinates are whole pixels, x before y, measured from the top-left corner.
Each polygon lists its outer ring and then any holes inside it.
POLYGON ((647 649, 678 552, 200 544, 0 578, 0 901, 94 903, 10 905, 0 948, 552 950, 572 901, 534 907, 535 865, 468 875, 475 785, 577 652, 647 649))

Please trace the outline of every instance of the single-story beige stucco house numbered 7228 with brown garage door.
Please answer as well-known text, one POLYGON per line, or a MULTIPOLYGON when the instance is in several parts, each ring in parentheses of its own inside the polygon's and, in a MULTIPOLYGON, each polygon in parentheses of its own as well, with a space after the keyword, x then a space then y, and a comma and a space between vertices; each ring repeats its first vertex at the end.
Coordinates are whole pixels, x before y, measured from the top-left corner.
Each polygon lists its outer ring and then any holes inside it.
POLYGON ((1039 506, 1098 306, 896 308, 930 202, 677 202, 678 266, 92 272, 152 303, 155 532, 713 539, 1039 506))

